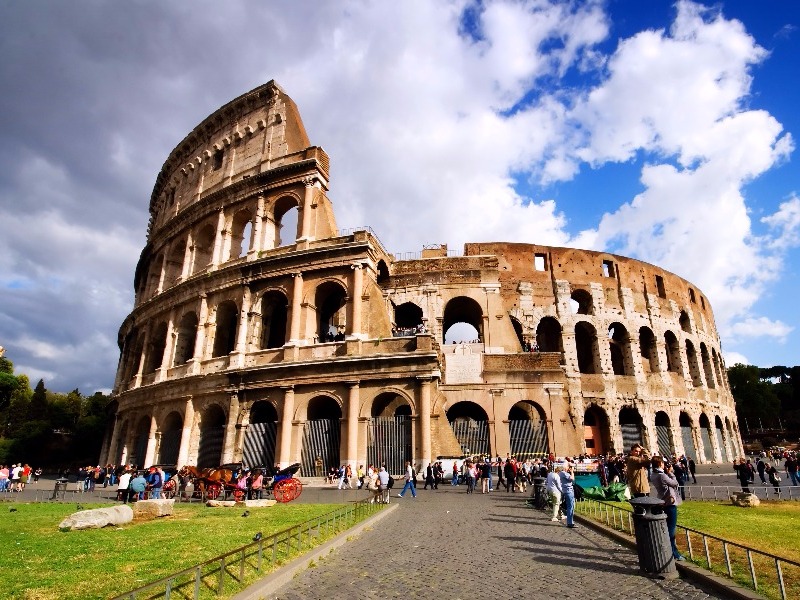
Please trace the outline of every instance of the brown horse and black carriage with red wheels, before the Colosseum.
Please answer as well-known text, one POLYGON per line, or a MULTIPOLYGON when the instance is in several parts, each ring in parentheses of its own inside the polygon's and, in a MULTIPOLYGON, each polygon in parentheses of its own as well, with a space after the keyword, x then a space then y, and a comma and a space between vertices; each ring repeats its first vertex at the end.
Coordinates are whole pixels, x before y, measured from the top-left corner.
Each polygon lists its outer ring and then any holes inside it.
MULTIPOLYGON (((294 477, 294 474, 300 470, 300 463, 295 463, 271 475, 267 474, 267 471, 271 471, 271 469, 261 468, 260 470, 264 476, 262 490, 266 492, 267 496, 272 493, 278 502, 290 502, 302 493, 303 484, 294 477)), ((241 463, 229 463, 211 469, 185 466, 178 472, 178 476, 184 482, 182 485, 184 489, 191 483, 192 495, 202 499, 216 500, 220 496, 222 498, 232 496, 234 500, 240 502, 245 500, 250 491, 247 485, 242 484, 242 478, 247 476, 247 471, 241 463)))

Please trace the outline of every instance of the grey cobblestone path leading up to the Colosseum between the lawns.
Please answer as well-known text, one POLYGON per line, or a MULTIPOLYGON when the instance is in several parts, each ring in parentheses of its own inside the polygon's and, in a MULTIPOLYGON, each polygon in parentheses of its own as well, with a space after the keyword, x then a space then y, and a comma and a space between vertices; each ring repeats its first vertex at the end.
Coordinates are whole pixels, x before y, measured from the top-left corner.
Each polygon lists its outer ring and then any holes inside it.
POLYGON ((722 598, 640 574, 636 555, 527 508, 527 494, 461 486, 392 498, 398 510, 269 598, 722 598))

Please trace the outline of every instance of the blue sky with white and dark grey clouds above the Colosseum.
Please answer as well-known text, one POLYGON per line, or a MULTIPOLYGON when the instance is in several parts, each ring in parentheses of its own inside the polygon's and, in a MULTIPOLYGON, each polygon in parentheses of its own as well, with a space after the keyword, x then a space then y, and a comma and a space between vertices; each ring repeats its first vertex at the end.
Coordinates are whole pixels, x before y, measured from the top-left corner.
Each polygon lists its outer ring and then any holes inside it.
POLYGON ((0 0, 0 345, 108 390, 171 149, 275 79, 341 228, 653 262, 800 364, 800 3, 0 0))

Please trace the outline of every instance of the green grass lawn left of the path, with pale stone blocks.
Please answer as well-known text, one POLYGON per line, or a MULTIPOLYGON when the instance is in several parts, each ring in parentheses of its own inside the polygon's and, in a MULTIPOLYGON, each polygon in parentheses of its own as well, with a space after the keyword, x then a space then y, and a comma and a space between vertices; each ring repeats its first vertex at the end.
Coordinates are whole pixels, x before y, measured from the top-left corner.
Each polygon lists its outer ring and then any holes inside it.
POLYGON ((276 504, 243 518, 244 509, 176 504, 171 517, 61 532, 74 504, 3 503, 0 589, 25 600, 107 598, 243 546, 259 531, 266 537, 339 507, 276 504))

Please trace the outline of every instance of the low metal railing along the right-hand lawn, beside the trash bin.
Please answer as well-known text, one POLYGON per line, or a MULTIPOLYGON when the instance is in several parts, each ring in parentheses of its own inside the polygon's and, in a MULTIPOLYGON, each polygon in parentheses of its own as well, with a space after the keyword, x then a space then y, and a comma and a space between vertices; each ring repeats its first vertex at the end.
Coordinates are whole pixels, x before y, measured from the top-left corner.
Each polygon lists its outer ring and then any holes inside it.
MULTIPOLYGON (((634 536, 633 511, 609 502, 583 500, 575 512, 634 536)), ((788 524, 776 524, 784 527, 788 524)), ((800 563, 678 525, 678 549, 700 567, 726 575, 767 598, 800 598, 800 563)))

